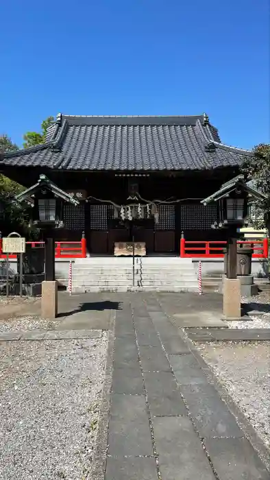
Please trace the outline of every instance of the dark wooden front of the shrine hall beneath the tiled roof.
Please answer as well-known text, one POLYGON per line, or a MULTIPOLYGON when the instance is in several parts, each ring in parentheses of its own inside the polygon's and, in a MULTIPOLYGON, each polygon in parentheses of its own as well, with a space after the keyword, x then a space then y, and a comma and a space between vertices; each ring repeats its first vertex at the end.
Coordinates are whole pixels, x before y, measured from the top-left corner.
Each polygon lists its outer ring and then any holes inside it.
MULTIPOLYGON (((187 240, 223 239, 219 230, 212 230, 216 206, 203 206, 200 200, 231 178, 232 171, 206 171, 190 175, 164 173, 62 173, 53 175, 62 189, 78 193, 83 198, 79 207, 64 206, 64 230, 58 240, 77 241, 86 234, 90 254, 112 254, 114 242, 144 241, 147 254, 179 252, 184 231, 187 240), (115 204, 127 204, 130 182, 138 184, 143 199, 167 201, 158 203, 158 223, 154 219, 135 221, 132 230, 114 219, 115 204), (81 193, 83 192, 83 193, 81 193), (88 197, 88 200, 85 200, 88 197), (96 200, 97 199, 97 200, 96 200), (222 237, 222 238, 221 238, 222 237)), ((51 172, 52 177, 52 172, 51 172)))

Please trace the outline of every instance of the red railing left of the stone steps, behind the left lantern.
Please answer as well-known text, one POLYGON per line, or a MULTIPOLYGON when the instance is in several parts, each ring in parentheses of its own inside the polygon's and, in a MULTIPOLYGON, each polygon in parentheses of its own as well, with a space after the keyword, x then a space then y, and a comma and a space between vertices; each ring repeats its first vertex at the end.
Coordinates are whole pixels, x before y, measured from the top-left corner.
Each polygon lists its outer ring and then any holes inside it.
MULTIPOLYGON (((27 241, 32 248, 44 248, 43 241, 27 241)), ((0 238, 0 259, 5 259, 6 254, 2 252, 2 239, 0 238)), ((16 259, 16 254, 10 254, 9 259, 16 259)), ((85 259, 86 239, 80 241, 56 241, 56 259, 85 259)))

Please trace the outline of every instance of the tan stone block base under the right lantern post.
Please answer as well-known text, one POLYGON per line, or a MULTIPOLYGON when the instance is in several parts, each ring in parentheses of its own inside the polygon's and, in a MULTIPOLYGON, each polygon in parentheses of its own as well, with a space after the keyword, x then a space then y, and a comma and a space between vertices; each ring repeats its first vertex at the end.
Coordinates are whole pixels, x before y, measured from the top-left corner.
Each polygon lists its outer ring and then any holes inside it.
POLYGON ((241 318, 241 281, 238 278, 224 278, 223 315, 224 320, 241 318))

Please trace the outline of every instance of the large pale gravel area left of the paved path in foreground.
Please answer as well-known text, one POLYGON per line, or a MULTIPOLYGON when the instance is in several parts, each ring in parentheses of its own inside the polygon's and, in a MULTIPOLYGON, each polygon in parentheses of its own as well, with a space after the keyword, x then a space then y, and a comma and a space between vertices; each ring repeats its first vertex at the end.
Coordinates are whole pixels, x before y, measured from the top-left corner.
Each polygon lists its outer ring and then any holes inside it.
POLYGON ((106 346, 1 342, 1 480, 90 479, 106 346))

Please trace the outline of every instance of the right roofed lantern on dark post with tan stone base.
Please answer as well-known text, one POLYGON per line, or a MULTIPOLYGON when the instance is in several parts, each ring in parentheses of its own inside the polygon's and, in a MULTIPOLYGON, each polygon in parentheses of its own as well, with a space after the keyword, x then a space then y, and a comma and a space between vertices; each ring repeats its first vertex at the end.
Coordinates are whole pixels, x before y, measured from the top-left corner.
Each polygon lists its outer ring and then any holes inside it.
POLYGON ((262 193, 247 185, 244 176, 239 175, 201 201, 204 205, 217 202, 217 221, 212 228, 227 231, 227 278, 223 285, 223 314, 228 320, 241 317, 241 282, 237 278, 238 228, 248 224, 249 200, 261 200, 262 197, 262 193))

